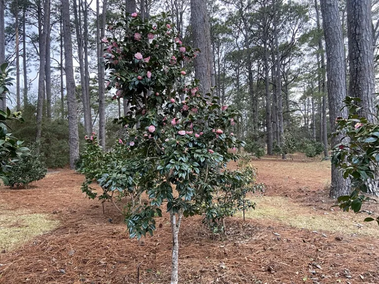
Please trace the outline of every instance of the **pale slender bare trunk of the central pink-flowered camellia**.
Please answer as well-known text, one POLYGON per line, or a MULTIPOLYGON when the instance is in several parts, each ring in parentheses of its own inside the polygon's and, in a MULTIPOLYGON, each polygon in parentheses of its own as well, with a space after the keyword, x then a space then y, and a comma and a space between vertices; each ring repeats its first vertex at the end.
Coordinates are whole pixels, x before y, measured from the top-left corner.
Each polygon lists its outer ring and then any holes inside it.
POLYGON ((178 284, 179 266, 179 229, 182 222, 183 213, 179 213, 178 220, 176 214, 170 212, 171 233, 172 233, 172 259, 171 259, 171 284, 178 284))

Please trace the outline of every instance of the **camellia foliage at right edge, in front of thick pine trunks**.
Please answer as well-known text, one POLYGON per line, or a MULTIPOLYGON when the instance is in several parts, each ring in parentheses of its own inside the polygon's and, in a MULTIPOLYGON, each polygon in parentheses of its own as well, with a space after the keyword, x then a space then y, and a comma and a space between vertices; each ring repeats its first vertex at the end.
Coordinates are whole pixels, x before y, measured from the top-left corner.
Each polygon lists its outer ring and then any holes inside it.
MULTIPOLYGON (((379 195, 376 185, 379 169, 379 124, 369 123, 365 117, 357 114, 359 110, 366 111, 358 106, 360 101, 361 99, 352 97, 344 99, 349 116, 336 119, 337 131, 343 134, 343 138, 336 145, 331 157, 332 163, 341 168, 343 177, 349 178, 351 185, 351 194, 338 198, 339 206, 344 211, 351 209, 355 213, 362 212, 363 203, 378 204, 368 193, 379 195)), ((378 119, 376 113, 368 114, 378 119)), ((372 214, 370 211, 365 212, 372 214)), ((379 217, 367 217, 365 221, 377 221, 379 224, 379 217)))

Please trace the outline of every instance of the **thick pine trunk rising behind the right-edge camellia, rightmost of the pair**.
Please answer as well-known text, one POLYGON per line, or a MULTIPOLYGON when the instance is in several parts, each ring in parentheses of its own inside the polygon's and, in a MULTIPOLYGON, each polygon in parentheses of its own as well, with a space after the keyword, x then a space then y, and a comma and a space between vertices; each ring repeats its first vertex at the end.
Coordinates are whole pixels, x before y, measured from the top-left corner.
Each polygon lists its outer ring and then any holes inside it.
POLYGON ((347 37, 349 42, 349 91, 362 101, 361 116, 376 122, 375 74, 371 0, 347 0, 347 37))

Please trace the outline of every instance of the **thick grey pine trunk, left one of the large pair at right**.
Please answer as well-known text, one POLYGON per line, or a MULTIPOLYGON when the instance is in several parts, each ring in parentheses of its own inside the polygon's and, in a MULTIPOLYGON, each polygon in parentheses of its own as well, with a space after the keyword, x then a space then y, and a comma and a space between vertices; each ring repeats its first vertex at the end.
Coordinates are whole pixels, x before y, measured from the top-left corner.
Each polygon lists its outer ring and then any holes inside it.
MULTIPOLYGON (((335 132, 336 117, 347 117, 346 108, 341 109, 341 102, 346 95, 341 21, 338 0, 321 0, 320 2, 327 55, 330 127, 331 131, 335 132)), ((333 136, 332 147, 338 144, 341 138, 341 135, 333 136)), ((332 165, 331 197, 336 198, 348 194, 350 194, 348 180, 344 179, 339 169, 332 165)))

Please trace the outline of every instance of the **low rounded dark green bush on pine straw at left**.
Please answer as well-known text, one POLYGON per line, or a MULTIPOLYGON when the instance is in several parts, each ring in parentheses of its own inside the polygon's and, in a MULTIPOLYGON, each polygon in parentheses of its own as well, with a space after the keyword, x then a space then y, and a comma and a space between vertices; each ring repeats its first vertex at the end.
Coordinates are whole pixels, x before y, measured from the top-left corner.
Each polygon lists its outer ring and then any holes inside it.
POLYGON ((46 173, 47 169, 39 155, 33 153, 22 155, 10 163, 7 169, 8 182, 6 185, 28 188, 29 183, 44 178, 46 173))

